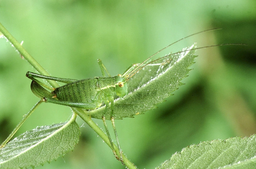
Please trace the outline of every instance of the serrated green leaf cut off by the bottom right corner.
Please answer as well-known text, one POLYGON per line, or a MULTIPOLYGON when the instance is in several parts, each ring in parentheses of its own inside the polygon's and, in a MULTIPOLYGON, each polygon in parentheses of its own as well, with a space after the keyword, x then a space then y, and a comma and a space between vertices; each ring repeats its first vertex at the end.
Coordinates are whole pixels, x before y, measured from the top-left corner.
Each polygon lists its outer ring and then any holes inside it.
POLYGON ((256 135, 206 141, 183 148, 157 169, 256 168, 256 135))

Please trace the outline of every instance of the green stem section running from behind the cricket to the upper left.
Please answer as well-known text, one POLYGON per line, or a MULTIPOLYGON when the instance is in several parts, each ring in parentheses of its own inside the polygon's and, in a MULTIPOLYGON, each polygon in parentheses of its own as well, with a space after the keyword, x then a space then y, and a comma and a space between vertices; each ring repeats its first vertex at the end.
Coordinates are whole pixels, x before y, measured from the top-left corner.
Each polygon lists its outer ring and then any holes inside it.
MULTIPOLYGON (((7 29, 0 23, 0 32, 6 39, 18 50, 18 52, 30 63, 40 74, 50 76, 50 74, 24 49, 24 47, 8 32, 7 29)), ((47 80, 48 81, 48 80, 47 80)), ((54 88, 59 87, 56 81, 48 81, 54 88)))

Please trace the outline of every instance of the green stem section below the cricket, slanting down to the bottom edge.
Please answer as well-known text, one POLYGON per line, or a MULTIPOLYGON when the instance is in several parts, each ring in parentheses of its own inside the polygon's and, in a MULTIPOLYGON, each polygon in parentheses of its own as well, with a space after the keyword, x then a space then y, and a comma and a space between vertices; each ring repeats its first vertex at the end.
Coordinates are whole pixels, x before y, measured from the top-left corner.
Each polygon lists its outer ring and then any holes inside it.
MULTIPOLYGON (((110 145, 110 141, 109 138, 107 137, 107 135, 97 126, 97 124, 95 124, 92 119, 90 114, 86 114, 84 113, 84 111, 80 108, 72 108, 72 110, 78 114, 78 116, 80 116, 102 139, 103 141, 111 148, 110 145)), ((114 144, 114 148, 116 150, 116 154, 119 156, 120 158, 120 154, 118 152, 118 148, 117 146, 114 144)), ((114 156, 114 155, 113 155, 114 156)), ((123 154, 123 163, 125 164, 125 166, 129 169, 136 169, 136 167, 134 166, 134 164, 129 161, 126 156, 123 154)))

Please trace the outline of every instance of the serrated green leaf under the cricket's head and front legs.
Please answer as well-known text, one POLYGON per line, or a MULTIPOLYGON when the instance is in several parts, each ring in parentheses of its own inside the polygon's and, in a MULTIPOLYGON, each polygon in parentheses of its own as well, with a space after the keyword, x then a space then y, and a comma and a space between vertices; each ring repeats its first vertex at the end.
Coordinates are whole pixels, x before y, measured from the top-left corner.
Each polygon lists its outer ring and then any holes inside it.
MULTIPOLYGON (((196 56, 195 44, 184 48, 181 53, 159 59, 138 71, 128 82, 128 94, 114 101, 115 119, 133 117, 156 108, 183 83, 181 80, 190 72, 188 69, 196 56), (189 50, 189 51, 188 51, 189 50)), ((101 119, 105 106, 88 111, 92 118, 101 119)), ((106 119, 110 119, 108 110, 106 119)))

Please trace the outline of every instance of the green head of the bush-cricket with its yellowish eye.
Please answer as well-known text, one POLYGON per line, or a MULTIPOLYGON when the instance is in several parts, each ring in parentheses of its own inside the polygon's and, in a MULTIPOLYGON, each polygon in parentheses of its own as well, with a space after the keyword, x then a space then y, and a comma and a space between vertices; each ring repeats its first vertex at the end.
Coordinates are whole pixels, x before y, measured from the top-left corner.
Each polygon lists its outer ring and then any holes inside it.
POLYGON ((115 76, 115 89, 117 96, 124 97, 127 94, 127 83, 121 75, 115 76))

